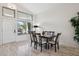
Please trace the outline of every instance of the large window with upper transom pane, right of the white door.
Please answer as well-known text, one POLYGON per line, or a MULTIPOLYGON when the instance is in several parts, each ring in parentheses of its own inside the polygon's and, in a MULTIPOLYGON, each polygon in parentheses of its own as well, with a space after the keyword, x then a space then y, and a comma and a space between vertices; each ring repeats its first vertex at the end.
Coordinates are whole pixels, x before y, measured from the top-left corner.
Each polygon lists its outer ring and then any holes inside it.
POLYGON ((32 16, 18 11, 17 12, 17 31, 18 31, 18 35, 22 35, 22 34, 26 34, 29 33, 29 31, 31 31, 31 25, 32 25, 32 16))

